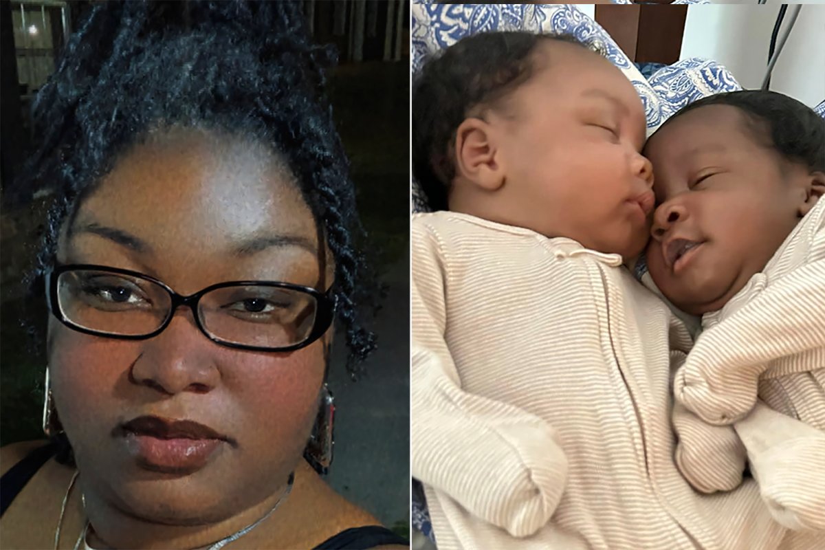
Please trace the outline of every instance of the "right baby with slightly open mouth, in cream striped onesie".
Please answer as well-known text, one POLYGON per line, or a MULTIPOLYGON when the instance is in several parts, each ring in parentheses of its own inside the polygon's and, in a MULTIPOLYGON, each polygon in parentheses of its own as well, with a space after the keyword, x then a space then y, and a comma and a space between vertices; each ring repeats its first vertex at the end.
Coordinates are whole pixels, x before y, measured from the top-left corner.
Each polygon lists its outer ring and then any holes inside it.
POLYGON ((727 491, 747 454, 775 519, 825 529, 825 120, 775 92, 719 94, 644 153, 661 203, 650 275, 702 316, 674 380, 679 467, 727 491))

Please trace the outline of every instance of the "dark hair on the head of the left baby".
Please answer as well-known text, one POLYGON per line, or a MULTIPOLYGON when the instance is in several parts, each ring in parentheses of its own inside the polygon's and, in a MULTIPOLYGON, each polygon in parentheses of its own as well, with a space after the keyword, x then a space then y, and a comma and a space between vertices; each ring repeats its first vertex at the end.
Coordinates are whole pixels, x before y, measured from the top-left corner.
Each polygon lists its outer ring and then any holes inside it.
POLYGON ((572 35, 487 32, 459 40, 424 64, 413 82, 413 176, 431 209, 447 209, 455 130, 474 107, 492 106, 527 82, 535 48, 548 40, 597 51, 572 35))

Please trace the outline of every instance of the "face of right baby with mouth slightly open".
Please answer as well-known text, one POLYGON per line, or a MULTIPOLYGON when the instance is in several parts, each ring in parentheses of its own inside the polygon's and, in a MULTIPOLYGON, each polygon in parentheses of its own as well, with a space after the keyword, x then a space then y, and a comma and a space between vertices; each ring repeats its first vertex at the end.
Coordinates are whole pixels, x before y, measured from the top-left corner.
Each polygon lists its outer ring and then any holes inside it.
POLYGON ((732 106, 705 106, 653 134, 658 208, 647 261, 676 307, 721 308, 764 269, 799 222, 796 171, 732 106))

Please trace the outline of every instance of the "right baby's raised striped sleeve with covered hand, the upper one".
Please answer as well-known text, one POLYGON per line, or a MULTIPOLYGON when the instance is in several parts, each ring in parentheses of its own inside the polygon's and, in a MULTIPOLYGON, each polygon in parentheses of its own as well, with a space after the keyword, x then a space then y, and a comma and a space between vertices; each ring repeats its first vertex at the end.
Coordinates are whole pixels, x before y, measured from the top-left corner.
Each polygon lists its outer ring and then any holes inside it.
POLYGON ((703 332, 676 373, 676 400, 710 424, 733 424, 752 410, 768 370, 782 376, 822 368, 823 281, 825 259, 811 261, 703 332))

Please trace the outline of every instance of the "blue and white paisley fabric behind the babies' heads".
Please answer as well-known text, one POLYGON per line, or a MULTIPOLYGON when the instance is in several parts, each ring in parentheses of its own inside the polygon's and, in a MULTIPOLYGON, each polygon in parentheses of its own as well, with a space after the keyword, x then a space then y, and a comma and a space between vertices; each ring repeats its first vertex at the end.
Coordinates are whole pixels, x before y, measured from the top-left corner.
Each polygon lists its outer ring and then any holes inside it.
MULTIPOLYGON (((413 75, 431 54, 478 32, 574 35, 603 52, 633 82, 648 119, 648 135, 676 110, 699 97, 741 89, 722 65, 695 58, 661 68, 648 81, 596 21, 570 4, 442 4, 415 0, 412 12, 413 75)), ((427 210, 414 181, 413 209, 427 210)))

